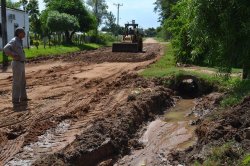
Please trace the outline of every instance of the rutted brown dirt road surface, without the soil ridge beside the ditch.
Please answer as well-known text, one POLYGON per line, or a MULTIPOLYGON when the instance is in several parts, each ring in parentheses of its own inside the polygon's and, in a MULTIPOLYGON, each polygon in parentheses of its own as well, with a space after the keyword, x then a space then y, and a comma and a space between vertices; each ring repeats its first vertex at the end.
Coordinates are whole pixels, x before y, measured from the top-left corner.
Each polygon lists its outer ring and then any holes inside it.
POLYGON ((0 93, 0 165, 31 164, 44 154, 56 153, 72 144, 77 135, 86 132, 98 119, 109 116, 127 101, 127 95, 133 90, 133 85, 116 89, 119 80, 161 55, 161 46, 157 44, 146 48, 145 53, 133 54, 138 60, 133 63, 127 62, 131 55, 123 57, 125 62, 121 62, 123 54, 105 57, 112 54, 110 48, 109 51, 78 53, 75 60, 73 54, 62 56, 62 61, 52 58, 38 60, 35 65, 30 62, 26 77, 27 92, 32 100, 20 112, 12 110, 11 73, 0 76, 3 89, 0 93), (146 56, 152 53, 155 56, 148 60, 146 56), (100 54, 103 59, 99 58, 100 54), (118 62, 109 62, 115 60, 118 62))

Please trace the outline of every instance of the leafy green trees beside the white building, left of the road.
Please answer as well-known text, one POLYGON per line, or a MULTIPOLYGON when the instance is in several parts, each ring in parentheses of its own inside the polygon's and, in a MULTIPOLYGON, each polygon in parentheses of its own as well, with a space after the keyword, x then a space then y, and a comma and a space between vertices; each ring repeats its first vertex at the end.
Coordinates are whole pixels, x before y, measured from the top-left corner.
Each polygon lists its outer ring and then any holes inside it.
MULTIPOLYGON (((7 0, 9 8, 23 9, 29 14, 30 31, 36 38, 50 37, 52 34, 64 36, 66 43, 72 43, 76 32, 93 31, 97 35, 98 28, 105 24, 104 29, 117 29, 115 17, 108 12, 105 0, 44 0, 45 9, 40 12, 38 0, 7 0)), ((120 28, 120 27, 119 27, 120 28)))

